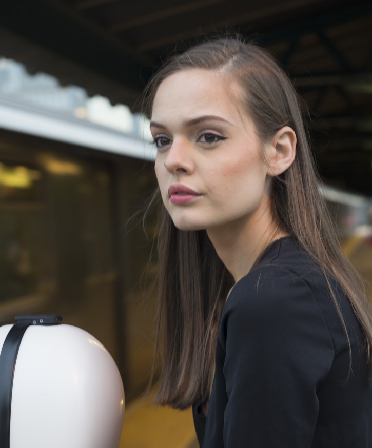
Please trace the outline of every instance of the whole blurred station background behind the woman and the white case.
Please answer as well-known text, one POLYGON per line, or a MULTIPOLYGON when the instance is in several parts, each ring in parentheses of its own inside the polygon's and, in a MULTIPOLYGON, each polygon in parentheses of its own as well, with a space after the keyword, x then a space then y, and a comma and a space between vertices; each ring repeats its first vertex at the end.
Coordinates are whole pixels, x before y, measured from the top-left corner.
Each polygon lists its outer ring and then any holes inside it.
MULTIPOLYGON (((143 398, 156 305, 154 190, 138 98, 196 34, 270 50, 311 114, 345 254, 372 279, 372 4, 342 0, 0 0, 0 324, 60 313, 123 377, 124 448, 197 446, 190 410, 143 398)), ((371 290, 370 290, 371 291, 371 290)))

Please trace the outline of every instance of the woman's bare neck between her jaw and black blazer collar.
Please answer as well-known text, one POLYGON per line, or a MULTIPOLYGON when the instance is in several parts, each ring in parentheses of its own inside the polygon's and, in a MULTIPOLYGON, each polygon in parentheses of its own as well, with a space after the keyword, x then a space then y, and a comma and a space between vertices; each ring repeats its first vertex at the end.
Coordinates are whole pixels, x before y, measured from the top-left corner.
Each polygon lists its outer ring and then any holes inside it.
POLYGON ((244 277, 262 251, 285 235, 270 212, 207 229, 208 237, 235 282, 244 277))

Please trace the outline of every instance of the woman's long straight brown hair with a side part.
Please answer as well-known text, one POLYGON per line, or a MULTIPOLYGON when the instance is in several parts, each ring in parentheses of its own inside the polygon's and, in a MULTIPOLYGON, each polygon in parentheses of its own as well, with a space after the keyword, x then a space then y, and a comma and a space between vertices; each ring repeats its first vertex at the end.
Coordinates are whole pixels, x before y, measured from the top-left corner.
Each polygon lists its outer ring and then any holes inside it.
MULTIPOLYGON (((279 228, 295 237, 324 272, 339 281, 364 331, 369 362, 370 304, 360 276, 340 252, 337 232, 318 190, 319 179, 300 100, 287 75, 268 52, 239 36, 208 40, 172 56, 155 73, 144 93, 148 116, 162 81, 172 73, 191 68, 226 73, 243 87, 245 110, 262 142, 272 138, 283 126, 295 131, 295 161, 273 179, 273 216, 279 228)), ((156 347, 163 350, 160 388, 155 401, 184 409, 210 393, 218 323, 233 278, 214 251, 206 231, 178 230, 164 206, 160 213, 156 347)), ((328 286, 346 331, 337 300, 328 286)))

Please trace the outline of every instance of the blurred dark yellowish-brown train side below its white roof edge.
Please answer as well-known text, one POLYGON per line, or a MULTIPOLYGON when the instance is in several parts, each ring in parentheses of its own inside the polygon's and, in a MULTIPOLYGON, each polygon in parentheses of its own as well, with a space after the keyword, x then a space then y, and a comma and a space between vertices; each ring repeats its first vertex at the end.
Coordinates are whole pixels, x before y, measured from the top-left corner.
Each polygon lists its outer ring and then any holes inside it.
POLYGON ((154 223, 130 218, 155 185, 152 161, 0 129, 0 324, 62 315, 111 353, 127 402, 149 379, 156 313, 154 223))

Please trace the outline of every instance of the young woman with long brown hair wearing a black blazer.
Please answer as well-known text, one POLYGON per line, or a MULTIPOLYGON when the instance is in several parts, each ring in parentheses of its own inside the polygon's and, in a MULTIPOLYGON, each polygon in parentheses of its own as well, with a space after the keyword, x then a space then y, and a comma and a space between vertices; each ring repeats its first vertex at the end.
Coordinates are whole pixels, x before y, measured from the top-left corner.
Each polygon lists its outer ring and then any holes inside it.
POLYGON ((147 113, 163 201, 163 371, 203 448, 371 448, 372 322, 299 101, 240 38, 173 56, 147 113))

